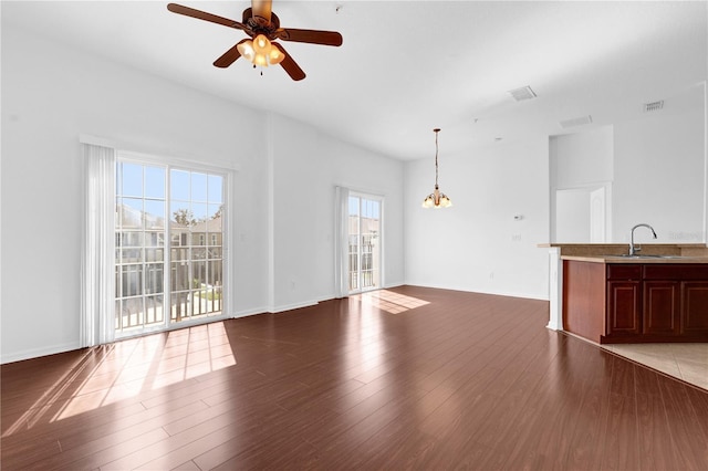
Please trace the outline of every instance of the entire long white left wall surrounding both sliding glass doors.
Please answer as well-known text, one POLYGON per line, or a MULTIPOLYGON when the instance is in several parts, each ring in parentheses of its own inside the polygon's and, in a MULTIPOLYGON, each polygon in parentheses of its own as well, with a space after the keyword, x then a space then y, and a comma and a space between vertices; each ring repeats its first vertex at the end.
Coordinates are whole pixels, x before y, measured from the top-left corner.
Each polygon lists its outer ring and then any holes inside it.
MULTIPOLYGON (((391 212, 400 213, 400 164, 320 136, 296 122, 7 24, 1 92, 2 363, 79 346, 81 134, 125 143, 133 150, 238 167, 230 201, 236 208, 232 315, 333 296, 333 254, 323 247, 331 243, 333 227, 333 203, 327 200, 344 178, 342 172, 355 169, 358 160, 368 170, 354 171, 353 185, 368 181, 367 188, 386 193, 391 212), (279 140, 271 147, 268 136, 273 129, 279 140), (330 166, 326 172, 323 164, 330 166), (368 175, 378 177, 368 180, 368 175), (303 192, 316 202, 294 206, 303 217, 292 218, 290 210, 303 192), (270 229, 278 233, 270 234, 270 229), (295 290, 290 290, 290 280, 295 290)), ((402 245, 400 218, 393 216, 387 227, 386 242, 402 245)), ((386 266, 398 268, 387 280, 400 283, 402 254, 393 249, 388 255, 387 251, 386 266)))

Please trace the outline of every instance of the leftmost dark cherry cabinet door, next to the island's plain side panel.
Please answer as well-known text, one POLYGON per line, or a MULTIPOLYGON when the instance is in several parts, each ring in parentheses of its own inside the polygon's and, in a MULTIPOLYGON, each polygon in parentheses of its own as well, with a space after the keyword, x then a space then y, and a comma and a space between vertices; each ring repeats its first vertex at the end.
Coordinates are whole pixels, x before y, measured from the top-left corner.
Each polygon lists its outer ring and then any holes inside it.
POLYGON ((641 281, 607 282, 607 335, 641 334, 641 281))

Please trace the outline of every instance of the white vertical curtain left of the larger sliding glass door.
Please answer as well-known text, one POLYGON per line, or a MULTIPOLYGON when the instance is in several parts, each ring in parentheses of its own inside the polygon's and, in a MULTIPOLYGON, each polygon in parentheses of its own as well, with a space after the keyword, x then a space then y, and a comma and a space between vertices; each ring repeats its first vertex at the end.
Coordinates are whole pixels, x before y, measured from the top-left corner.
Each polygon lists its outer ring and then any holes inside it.
POLYGON ((115 320, 115 155, 111 147, 81 144, 84 160, 81 346, 112 342, 115 320))

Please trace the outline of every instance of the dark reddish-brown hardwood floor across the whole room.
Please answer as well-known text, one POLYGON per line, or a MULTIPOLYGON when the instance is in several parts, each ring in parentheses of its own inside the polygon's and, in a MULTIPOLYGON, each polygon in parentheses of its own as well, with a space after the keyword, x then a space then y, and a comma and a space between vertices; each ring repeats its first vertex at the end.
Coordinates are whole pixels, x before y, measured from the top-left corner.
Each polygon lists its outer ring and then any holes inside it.
POLYGON ((707 470, 708 391, 402 286, 3 365, 3 470, 707 470))

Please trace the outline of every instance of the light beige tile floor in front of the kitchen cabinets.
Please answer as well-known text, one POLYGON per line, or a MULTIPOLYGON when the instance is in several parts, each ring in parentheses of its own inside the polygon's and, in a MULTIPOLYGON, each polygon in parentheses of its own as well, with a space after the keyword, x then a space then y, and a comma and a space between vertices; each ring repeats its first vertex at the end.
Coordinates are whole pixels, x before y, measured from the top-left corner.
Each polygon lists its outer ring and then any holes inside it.
POLYGON ((610 352, 669 376, 708 389, 708 343, 701 344, 613 344, 610 352))

